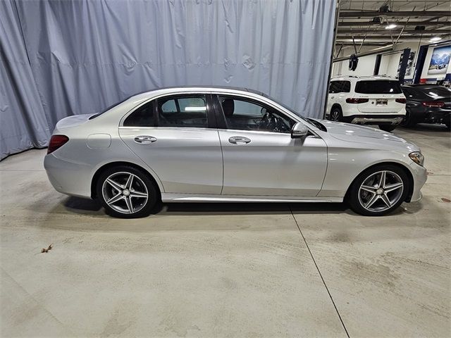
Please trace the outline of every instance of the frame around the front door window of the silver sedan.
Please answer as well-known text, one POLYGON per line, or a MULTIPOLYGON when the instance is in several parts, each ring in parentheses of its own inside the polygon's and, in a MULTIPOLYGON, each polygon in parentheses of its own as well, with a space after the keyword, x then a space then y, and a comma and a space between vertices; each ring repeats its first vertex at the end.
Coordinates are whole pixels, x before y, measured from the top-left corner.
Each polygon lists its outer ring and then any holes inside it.
POLYGON ((216 120, 218 121, 218 130, 237 130, 238 132, 264 132, 264 133, 271 133, 271 134, 285 134, 285 135, 290 135, 291 137, 291 133, 288 132, 271 132, 268 130, 242 130, 242 129, 230 129, 227 127, 227 122, 226 122, 226 114, 223 112, 223 107, 221 106, 221 102, 219 101, 219 96, 228 96, 231 99, 237 99, 240 101, 245 101, 245 102, 249 102, 250 104, 255 104, 257 106, 261 106, 261 108, 266 108, 266 109, 271 109, 273 111, 276 111, 278 114, 282 115, 285 119, 287 120, 291 120, 295 125, 297 122, 297 120, 295 120, 295 118, 292 118, 290 115, 287 115, 286 113, 284 113, 283 111, 280 111, 280 109, 276 108, 275 106, 272 106, 270 104, 266 104, 266 102, 260 101, 258 99, 254 99, 248 96, 244 96, 244 95, 240 95, 240 94, 235 94, 235 93, 212 93, 211 94, 213 101, 214 101, 214 110, 215 110, 215 115, 216 115, 216 120))

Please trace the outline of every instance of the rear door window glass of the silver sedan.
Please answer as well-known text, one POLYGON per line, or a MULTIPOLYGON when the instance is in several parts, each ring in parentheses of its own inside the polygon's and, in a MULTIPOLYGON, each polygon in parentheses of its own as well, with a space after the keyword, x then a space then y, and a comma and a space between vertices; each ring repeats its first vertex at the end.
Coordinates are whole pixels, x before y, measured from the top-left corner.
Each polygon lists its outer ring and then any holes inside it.
POLYGON ((171 96, 158 100, 159 127, 208 127, 204 94, 171 96))

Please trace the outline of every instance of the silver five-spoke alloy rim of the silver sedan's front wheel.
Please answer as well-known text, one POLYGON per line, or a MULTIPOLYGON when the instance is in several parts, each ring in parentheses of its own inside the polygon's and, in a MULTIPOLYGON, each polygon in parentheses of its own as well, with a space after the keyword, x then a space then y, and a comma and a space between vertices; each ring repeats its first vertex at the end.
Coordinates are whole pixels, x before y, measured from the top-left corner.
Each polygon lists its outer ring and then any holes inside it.
POLYGON ((359 202, 368 211, 385 211, 402 196, 404 183, 397 173, 382 170, 366 177, 359 188, 359 202))

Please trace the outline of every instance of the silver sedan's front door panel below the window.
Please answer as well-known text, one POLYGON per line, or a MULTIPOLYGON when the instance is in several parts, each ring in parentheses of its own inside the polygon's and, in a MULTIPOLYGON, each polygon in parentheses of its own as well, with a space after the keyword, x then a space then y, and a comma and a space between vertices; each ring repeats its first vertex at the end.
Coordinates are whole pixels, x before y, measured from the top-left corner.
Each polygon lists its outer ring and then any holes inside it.
POLYGON ((327 165, 323 139, 313 136, 292 139, 290 134, 278 132, 218 132, 224 159, 222 194, 316 196, 319 193, 327 165))

